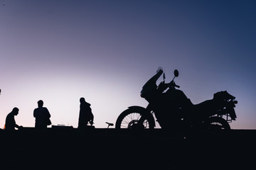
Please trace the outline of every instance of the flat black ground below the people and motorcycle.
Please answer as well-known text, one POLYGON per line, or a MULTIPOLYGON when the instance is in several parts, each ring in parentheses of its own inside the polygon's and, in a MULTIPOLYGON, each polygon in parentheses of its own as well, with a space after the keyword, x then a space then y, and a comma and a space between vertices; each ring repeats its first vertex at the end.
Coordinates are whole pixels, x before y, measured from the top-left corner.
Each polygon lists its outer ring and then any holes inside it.
POLYGON ((256 130, 0 130, 1 164, 46 169, 256 169, 256 130))

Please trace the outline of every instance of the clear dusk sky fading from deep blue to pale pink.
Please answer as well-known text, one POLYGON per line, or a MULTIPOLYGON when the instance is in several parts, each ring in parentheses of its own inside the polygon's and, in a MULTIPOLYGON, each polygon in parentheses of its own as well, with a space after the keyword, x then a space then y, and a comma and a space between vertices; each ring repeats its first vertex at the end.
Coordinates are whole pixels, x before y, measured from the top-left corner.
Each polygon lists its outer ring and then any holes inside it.
POLYGON ((37 101, 53 125, 115 123, 158 67, 193 103, 235 96, 235 129, 256 129, 256 1, 0 0, 0 128, 12 108, 33 127, 37 101))

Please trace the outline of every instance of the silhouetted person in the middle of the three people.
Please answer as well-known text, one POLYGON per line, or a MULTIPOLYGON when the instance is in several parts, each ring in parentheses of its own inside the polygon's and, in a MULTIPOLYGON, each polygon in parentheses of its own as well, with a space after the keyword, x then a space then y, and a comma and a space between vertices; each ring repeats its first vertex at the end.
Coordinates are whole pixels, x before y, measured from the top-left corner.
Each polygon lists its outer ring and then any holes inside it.
POLYGON ((50 125, 50 113, 47 108, 43 107, 43 101, 38 101, 38 108, 33 111, 33 117, 36 118, 36 129, 46 130, 50 125))

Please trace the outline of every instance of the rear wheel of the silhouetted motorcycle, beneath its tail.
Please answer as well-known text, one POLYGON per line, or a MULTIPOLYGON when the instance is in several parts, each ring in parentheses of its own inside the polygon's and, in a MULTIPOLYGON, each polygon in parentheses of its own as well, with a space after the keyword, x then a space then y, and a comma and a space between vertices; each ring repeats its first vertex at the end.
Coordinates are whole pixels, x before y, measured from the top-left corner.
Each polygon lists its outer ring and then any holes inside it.
POLYGON ((230 130, 230 125, 228 122, 220 117, 210 117, 205 122, 204 125, 207 130, 230 130))

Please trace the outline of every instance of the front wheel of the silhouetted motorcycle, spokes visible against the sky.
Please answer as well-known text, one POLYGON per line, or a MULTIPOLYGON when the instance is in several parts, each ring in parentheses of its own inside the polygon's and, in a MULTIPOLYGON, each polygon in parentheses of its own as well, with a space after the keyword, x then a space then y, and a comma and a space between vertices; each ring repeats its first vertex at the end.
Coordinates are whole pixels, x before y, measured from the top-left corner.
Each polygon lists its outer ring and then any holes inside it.
MULTIPOLYGON (((142 111, 136 108, 128 108, 123 111, 117 118, 115 123, 116 129, 128 128, 128 129, 153 129, 154 128, 154 120, 145 119, 140 120, 142 118, 142 111), (143 122, 143 123, 139 123, 143 122)), ((152 116, 152 115, 151 115, 152 116)))

